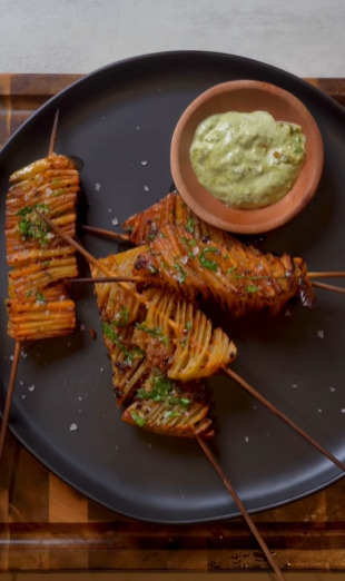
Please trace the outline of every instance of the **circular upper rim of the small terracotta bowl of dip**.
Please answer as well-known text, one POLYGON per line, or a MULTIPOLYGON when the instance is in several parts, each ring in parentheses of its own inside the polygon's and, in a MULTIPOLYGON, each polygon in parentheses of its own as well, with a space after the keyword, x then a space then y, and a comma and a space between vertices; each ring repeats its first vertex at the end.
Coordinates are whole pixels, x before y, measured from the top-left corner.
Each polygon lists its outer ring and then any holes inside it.
MULTIPOLYGON (((254 109, 256 110, 256 109, 254 109)), ((190 163, 190 160, 189 160, 190 163)), ((275 228, 278 228, 279 226, 283 226, 284 224, 292 220, 295 216, 297 216, 310 201, 310 199, 314 197, 317 186, 319 184, 322 173, 324 167, 324 144, 323 138, 319 131, 319 128, 309 112, 309 110, 306 108, 306 106, 292 92, 282 89, 280 87, 268 83, 265 81, 259 80, 247 80, 247 79, 240 79, 240 80, 233 80, 223 82, 219 85, 215 85, 214 87, 207 89, 201 95, 199 95, 191 104, 185 109, 183 115, 180 116, 174 134, 171 138, 171 146, 170 146, 170 169, 174 183, 177 187, 178 193, 183 197, 183 199, 186 201, 186 204, 190 207, 190 209, 201 219, 207 221, 208 224, 211 224, 213 226, 216 226, 218 228, 221 228, 224 230, 234 232, 237 234, 260 234, 266 233, 269 230, 273 230, 275 228), (269 92, 276 97, 279 97, 280 99, 287 101, 290 107, 293 107, 295 110, 297 110, 307 121, 309 129, 309 134, 313 135, 313 156, 314 156, 314 163, 313 163, 313 171, 310 180, 307 184, 307 187, 302 190, 300 196, 296 200, 296 203, 288 209, 279 214, 279 207, 282 208, 283 201, 286 198, 286 196, 289 195, 289 193, 293 190, 295 184, 297 184, 297 180, 299 179, 299 176, 303 175, 305 165, 302 167, 302 170, 297 177, 296 183, 294 184, 293 188, 287 193, 280 200, 278 200, 276 204, 273 204, 270 206, 267 206, 265 208, 258 208, 258 209, 237 209, 237 208, 228 208, 227 210, 231 211, 231 219, 228 218, 221 218, 214 214, 211 214, 209 210, 207 210, 203 204, 200 204, 189 191, 189 188, 186 184, 184 171, 181 171, 180 163, 179 163, 179 148, 181 138, 184 136, 184 131, 186 129, 187 122, 191 116, 193 112, 195 112, 201 105, 207 102, 210 98, 216 97, 217 95, 220 95, 223 92, 233 92, 236 90, 260 90, 264 92, 269 92), (280 206, 279 206, 280 205, 280 206), (267 218, 267 210, 270 208, 276 207, 277 208, 277 215, 275 218, 272 216, 267 218), (252 223, 241 223, 240 217, 248 216, 248 213, 252 213, 254 218, 257 217, 255 221, 252 223), (255 213, 255 215, 253 214, 255 213)), ((211 196, 210 193, 206 190, 201 185, 199 187, 206 193, 207 196, 211 196)), ((224 204, 220 200, 217 200, 214 196, 211 196, 214 200, 218 204, 224 204)), ((272 210, 270 210, 272 211, 272 210)), ((269 213, 270 213, 269 211, 269 213)))

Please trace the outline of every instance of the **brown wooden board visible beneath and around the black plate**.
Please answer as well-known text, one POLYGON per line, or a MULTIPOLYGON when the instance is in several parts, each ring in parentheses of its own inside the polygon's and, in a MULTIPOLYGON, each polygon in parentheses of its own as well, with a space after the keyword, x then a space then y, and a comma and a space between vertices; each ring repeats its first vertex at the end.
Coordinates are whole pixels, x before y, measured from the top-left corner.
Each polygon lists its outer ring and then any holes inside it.
MULTIPOLYGON (((0 75, 0 147, 80 75, 0 75)), ((307 79, 345 105, 345 79, 307 79)), ((254 516, 284 570, 345 569, 345 480, 254 516)), ((11 435, 0 470, 0 571, 231 571, 266 562, 240 519, 156 525, 111 512, 65 484, 11 435)))

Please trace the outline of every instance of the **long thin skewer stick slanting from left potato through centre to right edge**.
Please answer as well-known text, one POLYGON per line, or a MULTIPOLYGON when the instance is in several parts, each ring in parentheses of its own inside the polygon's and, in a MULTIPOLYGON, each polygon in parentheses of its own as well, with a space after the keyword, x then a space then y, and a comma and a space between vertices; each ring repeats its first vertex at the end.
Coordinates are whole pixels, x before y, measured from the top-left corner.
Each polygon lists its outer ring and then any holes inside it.
MULTIPOLYGON (((65 238, 69 244, 71 244, 77 250, 79 250, 89 262, 95 264, 100 270, 102 270, 107 277, 112 278, 111 272, 109 272, 99 260, 93 258, 91 254, 89 254, 80 244, 78 244, 73 238, 68 236, 59 226, 57 226, 53 221, 51 221, 47 216, 41 214, 38 209, 34 209, 37 215, 48 224, 52 230, 55 230, 59 236, 65 238)), ((132 287, 130 287, 127 283, 119 283, 124 288, 128 289, 129 292, 134 293, 136 298, 140 301, 140 303, 148 305, 148 301, 144 298, 139 293, 135 292, 132 287)), ((171 318, 168 318, 168 324, 174 329, 178 329, 177 323, 172 321, 171 318)), ((223 367, 225 373, 229 375, 235 382, 237 382, 241 387, 244 387, 247 392, 250 393, 254 397, 256 397, 262 404, 264 404, 270 412, 276 414, 283 422, 285 422, 287 425, 289 425, 295 432, 297 432, 302 437, 307 440, 309 444, 312 444, 316 450, 318 450, 322 454, 324 454, 328 460, 334 462, 343 472, 345 472, 345 464, 341 462, 337 457, 335 457, 331 452, 325 450, 321 444, 318 444, 312 436, 309 436, 302 427, 299 427, 295 422, 289 420, 283 412, 280 412, 277 407, 275 407, 266 397, 264 397, 259 392, 257 392, 252 385, 249 385, 245 380, 243 380, 237 373, 235 373, 233 370, 229 370, 228 367, 223 367)))

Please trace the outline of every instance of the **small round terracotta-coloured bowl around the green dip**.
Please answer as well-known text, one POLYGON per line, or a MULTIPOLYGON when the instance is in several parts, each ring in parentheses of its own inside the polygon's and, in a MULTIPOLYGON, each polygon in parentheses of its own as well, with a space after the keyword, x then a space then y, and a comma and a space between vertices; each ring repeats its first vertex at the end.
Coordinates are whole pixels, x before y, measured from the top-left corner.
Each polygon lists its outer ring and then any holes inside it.
POLYGON ((268 232, 294 218, 313 198, 318 186, 324 147, 319 129, 306 107, 292 93, 267 82, 239 80, 217 85, 198 97, 179 119, 171 141, 171 173, 176 187, 197 216, 235 233, 268 232), (268 111, 276 120, 300 125, 306 135, 306 159, 293 188, 266 208, 235 209, 214 198, 198 181, 189 148, 200 121, 210 115, 268 111))

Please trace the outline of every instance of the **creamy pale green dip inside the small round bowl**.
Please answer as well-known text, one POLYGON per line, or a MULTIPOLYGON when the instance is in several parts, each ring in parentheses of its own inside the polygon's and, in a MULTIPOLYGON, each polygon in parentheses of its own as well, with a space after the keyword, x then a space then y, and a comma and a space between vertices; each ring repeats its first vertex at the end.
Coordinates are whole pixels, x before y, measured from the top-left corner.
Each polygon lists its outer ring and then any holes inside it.
POLYGON ((276 121, 266 111, 230 111, 200 122, 190 161, 215 198, 234 208, 264 208, 292 189, 305 160, 305 141, 298 125, 276 121))

